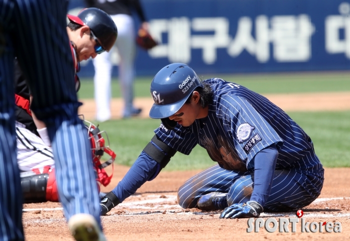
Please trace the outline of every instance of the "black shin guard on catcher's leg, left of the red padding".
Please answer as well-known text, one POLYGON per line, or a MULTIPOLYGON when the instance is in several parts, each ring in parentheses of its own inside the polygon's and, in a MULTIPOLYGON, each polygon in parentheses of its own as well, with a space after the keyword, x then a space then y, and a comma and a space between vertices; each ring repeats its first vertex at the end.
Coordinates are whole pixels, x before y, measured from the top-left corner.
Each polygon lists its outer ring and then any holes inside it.
POLYGON ((24 203, 46 201, 48 173, 20 178, 24 203))

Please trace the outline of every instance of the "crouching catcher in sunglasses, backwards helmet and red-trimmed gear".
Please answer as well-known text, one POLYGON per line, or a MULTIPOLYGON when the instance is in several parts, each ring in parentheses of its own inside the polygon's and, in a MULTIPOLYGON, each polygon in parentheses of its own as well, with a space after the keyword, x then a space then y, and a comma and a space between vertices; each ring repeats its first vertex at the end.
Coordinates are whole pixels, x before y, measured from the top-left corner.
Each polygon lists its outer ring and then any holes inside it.
MULTIPOLYGON (((98 53, 112 47, 117 31, 110 16, 97 8, 85 8, 77 16, 68 14, 67 17, 70 20, 67 33, 76 73, 80 69, 80 60, 94 58, 98 53)), ((58 201, 54 160, 46 126, 29 109, 31 102, 29 87, 16 59, 14 65, 17 163, 21 171, 24 202, 58 201)), ((80 81, 75 74, 76 91, 79 86, 80 81)), ((107 175, 104 167, 114 161, 115 153, 108 148, 108 143, 105 143, 105 140, 108 140, 105 131, 100 131, 98 126, 86 120, 84 125, 90 140, 99 190, 100 184, 106 186, 110 182, 111 176, 107 175), (110 159, 101 163, 103 153, 109 154, 110 159)))

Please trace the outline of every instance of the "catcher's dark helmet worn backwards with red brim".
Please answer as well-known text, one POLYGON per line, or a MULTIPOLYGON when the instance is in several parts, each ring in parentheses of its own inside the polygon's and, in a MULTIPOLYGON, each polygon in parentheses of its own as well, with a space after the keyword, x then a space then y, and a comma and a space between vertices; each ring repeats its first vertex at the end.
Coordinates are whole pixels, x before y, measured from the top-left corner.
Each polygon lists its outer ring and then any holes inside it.
POLYGON ((67 14, 70 21, 80 25, 87 25, 107 52, 113 46, 117 29, 112 18, 104 11, 89 7, 82 9, 77 16, 67 14))

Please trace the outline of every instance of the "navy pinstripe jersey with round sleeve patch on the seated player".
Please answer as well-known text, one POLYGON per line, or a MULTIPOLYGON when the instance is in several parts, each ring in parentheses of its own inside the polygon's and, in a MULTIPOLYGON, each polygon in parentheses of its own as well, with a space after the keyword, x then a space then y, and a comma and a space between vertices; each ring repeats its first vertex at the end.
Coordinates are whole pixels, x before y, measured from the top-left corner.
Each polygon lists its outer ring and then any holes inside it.
POLYGON ((212 160, 228 170, 246 170, 261 149, 276 144, 276 168, 321 168, 318 158, 307 159, 309 136, 283 110, 244 86, 219 78, 206 79, 213 90, 208 115, 173 130, 162 124, 154 132, 172 148, 189 154, 199 144, 212 160))

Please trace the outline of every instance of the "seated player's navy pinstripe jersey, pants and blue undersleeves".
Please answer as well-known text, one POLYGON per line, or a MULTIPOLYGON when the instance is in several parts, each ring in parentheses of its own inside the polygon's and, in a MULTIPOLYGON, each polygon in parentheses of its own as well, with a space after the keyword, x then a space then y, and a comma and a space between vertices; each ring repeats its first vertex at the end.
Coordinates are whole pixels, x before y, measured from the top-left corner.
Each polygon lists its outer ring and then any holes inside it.
MULTIPOLYGON (((154 130, 173 149, 189 154, 199 144, 219 163, 179 187, 179 205, 196 207, 201 196, 215 191, 227 193, 228 205, 255 200, 274 211, 311 203, 320 194, 324 170, 301 127, 244 86, 219 78, 203 83, 213 92, 206 117, 187 127, 168 130, 161 123, 154 130), (274 151, 277 159, 269 155, 274 151)), ((158 172, 159 163, 142 151, 112 192, 123 201, 158 172)))

